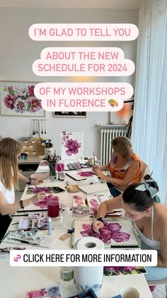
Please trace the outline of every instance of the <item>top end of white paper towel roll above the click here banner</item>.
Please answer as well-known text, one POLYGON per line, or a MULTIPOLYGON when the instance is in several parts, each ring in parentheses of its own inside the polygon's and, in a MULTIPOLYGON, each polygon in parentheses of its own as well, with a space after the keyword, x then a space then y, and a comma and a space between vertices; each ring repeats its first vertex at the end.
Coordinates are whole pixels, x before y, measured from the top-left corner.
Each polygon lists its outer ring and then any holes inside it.
POLYGON ((104 243, 96 237, 84 237, 76 240, 74 247, 76 250, 103 250, 104 243))

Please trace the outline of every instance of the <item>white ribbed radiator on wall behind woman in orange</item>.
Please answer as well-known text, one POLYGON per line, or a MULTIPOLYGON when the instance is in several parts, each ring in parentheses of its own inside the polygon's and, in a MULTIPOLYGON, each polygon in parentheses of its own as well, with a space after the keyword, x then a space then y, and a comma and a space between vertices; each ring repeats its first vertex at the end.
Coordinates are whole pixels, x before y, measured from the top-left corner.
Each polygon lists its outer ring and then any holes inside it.
POLYGON ((126 137, 127 125, 100 129, 100 161, 101 165, 108 164, 112 153, 111 141, 115 137, 126 137))

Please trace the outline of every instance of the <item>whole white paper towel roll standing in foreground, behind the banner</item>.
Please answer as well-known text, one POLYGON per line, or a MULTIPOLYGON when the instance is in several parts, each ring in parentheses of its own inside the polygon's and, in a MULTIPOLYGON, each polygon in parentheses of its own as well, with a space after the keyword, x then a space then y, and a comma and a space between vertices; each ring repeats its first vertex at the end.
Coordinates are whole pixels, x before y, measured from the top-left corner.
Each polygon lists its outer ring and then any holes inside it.
MULTIPOLYGON (((104 243, 95 237, 84 237, 76 240, 77 250, 103 250, 104 243)), ((90 288, 98 291, 102 287, 103 266, 97 267, 74 267, 74 284, 84 292, 90 288)))

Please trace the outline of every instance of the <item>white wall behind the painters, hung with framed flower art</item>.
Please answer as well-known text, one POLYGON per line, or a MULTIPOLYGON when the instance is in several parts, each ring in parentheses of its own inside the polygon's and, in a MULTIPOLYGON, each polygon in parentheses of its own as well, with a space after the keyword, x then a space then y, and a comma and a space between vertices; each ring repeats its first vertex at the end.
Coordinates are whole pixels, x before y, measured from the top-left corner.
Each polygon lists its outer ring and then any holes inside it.
MULTIPOLYGON (((30 40, 28 28, 33 23, 134 23, 138 24, 138 10, 112 9, 30 9, 0 8, 0 80, 66 82, 75 78, 38 78, 33 74, 33 61, 47 46, 119 46, 125 58, 136 63, 137 41, 132 42, 36 42, 30 40)), ((125 78, 93 78, 96 82, 126 81, 134 86, 135 74, 125 78)), ((30 119, 33 117, 0 116, 2 137, 30 136, 30 119)), ((96 124, 108 124, 107 112, 88 112, 84 119, 57 118, 46 113, 47 137, 52 138, 60 154, 61 130, 84 131, 84 154, 93 151, 99 157, 100 134, 96 124)), ((114 122, 114 118, 113 118, 114 122)))

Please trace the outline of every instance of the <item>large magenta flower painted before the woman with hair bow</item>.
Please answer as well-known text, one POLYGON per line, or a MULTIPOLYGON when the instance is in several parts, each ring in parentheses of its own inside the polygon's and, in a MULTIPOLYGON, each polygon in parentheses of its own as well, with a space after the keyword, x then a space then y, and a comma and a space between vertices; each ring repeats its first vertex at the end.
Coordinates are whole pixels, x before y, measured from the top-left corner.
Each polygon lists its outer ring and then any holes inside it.
POLYGON ((125 232, 121 232, 122 226, 119 223, 107 223, 104 221, 103 228, 100 228, 100 234, 94 233, 90 224, 83 224, 82 228, 84 231, 81 231, 81 235, 86 236, 94 236, 103 240, 103 243, 110 243, 111 239, 113 239, 117 243, 122 243, 129 240, 130 235, 125 232))

